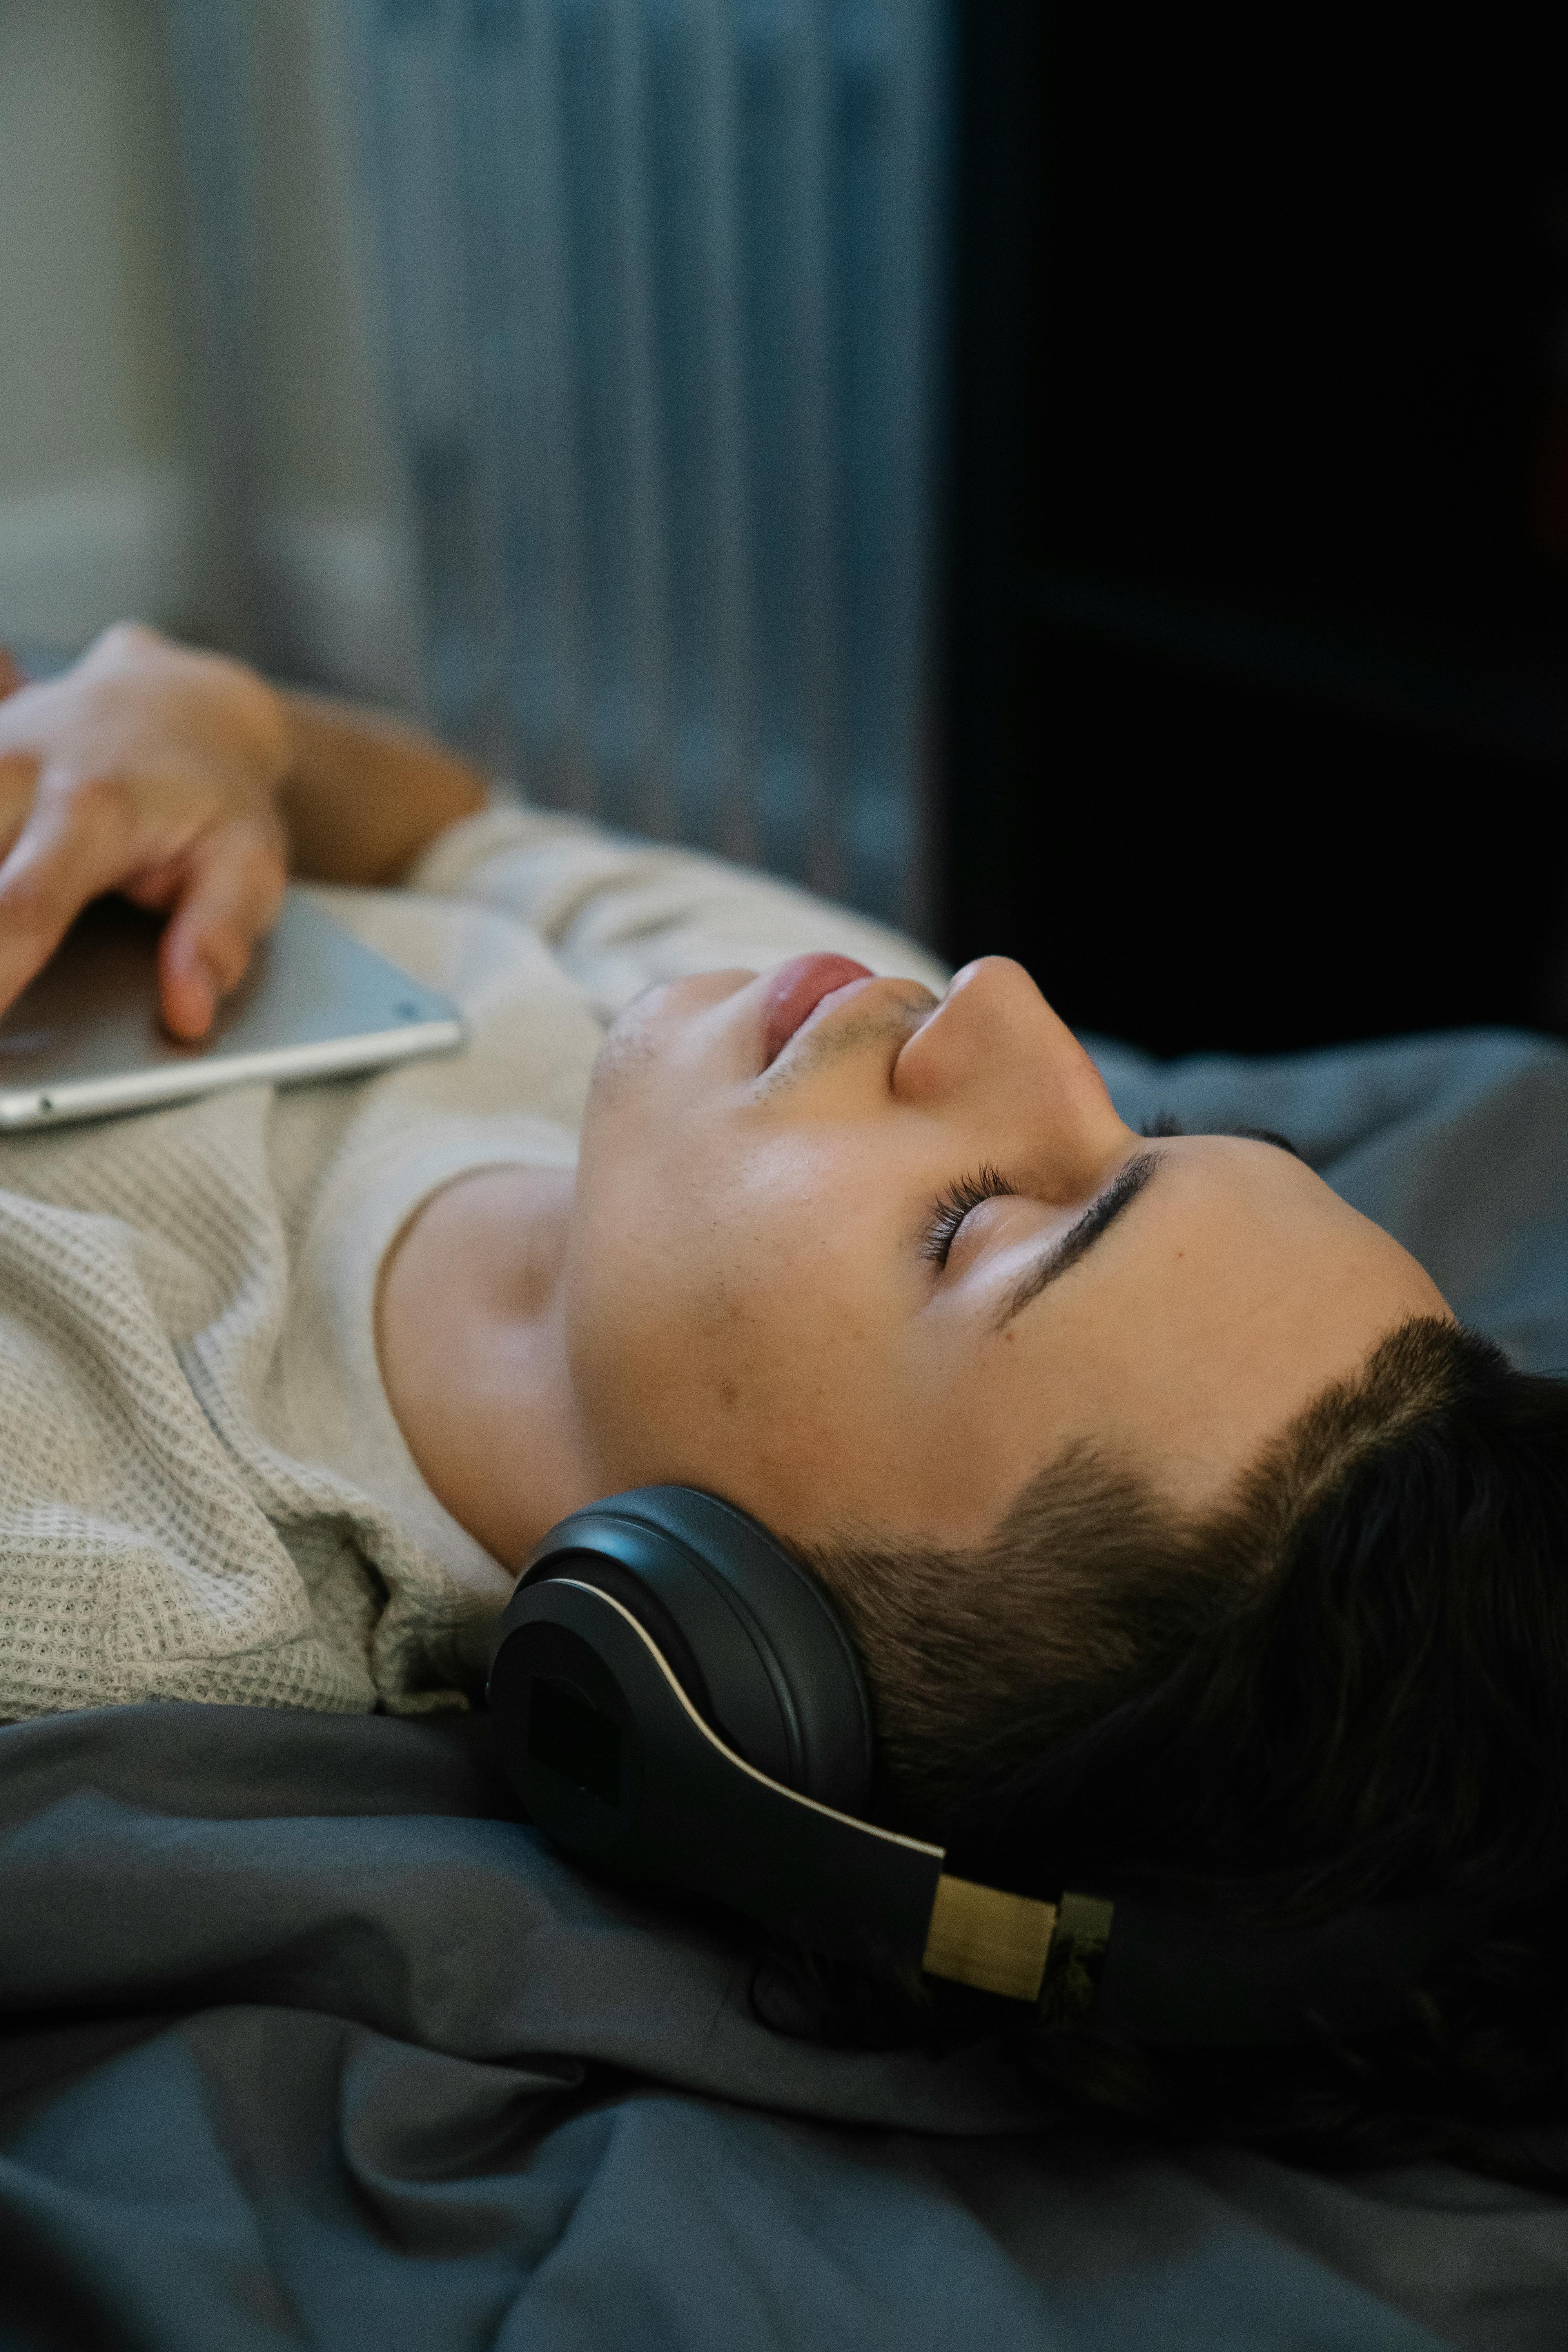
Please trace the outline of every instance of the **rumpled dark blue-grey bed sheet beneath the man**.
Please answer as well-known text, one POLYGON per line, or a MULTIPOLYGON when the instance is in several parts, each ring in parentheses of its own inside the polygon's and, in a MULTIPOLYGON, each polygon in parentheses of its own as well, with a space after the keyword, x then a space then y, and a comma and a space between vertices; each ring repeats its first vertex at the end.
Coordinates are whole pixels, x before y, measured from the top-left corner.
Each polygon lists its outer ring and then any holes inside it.
MULTIPOLYGON (((1157 1068, 1568 1364, 1568 1054, 1157 1068)), ((980 2049, 773 2034, 750 1952, 517 1820, 482 1717, 0 1729, 0 2347, 1535 2352, 1568 2206, 1086 2147, 980 2049)))

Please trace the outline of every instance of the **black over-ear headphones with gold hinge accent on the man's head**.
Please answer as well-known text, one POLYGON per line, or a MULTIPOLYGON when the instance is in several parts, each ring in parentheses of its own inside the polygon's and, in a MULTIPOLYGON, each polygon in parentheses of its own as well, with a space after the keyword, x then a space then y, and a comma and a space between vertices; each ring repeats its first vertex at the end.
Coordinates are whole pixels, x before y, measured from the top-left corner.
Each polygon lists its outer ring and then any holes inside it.
POLYGON ((832 1599, 691 1486, 609 1496, 545 1536, 496 1632, 489 1710, 524 1809, 590 1867, 1027 2002, 1046 2032, 1366 2032, 1443 1940, 1415 1905, 1239 1936, 1128 1896, 1039 1903, 950 1877, 940 1846, 863 1818, 872 1717, 832 1599))

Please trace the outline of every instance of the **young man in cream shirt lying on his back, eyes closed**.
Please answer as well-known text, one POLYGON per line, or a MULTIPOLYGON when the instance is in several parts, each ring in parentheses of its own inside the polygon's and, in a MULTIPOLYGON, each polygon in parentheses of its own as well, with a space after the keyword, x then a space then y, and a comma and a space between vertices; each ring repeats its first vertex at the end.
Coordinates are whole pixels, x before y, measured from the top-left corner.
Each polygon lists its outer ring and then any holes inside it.
POLYGON ((882 1818, 969 1875, 1472 1924, 1375 2046, 1070 2034, 1063 2084, 1340 2154, 1561 2110, 1563 1388, 1284 1138, 1140 1134, 1018 964, 139 628, 0 706, 0 1004, 120 889, 200 1037, 292 868, 470 1023, 0 1143, 0 1715, 454 1705, 557 1519, 701 1486, 825 1583, 882 1818))

